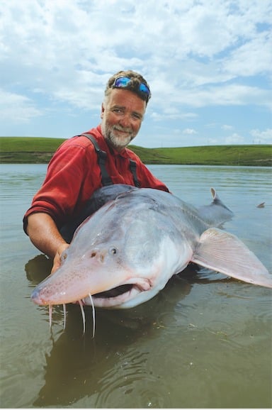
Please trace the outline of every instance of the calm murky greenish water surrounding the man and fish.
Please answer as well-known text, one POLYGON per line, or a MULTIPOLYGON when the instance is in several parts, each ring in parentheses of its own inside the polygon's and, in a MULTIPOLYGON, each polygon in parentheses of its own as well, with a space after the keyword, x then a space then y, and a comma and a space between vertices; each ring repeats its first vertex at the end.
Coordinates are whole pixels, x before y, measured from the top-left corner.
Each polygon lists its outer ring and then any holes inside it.
MULTIPOLYGON (((171 192, 235 213, 225 229, 272 272, 271 170, 152 165, 171 192), (265 201, 264 208, 256 206, 265 201)), ((45 165, 1 165, 1 407, 271 407, 271 289, 208 270, 186 270, 157 297, 127 311, 47 308, 30 293, 51 263, 22 230, 45 165)), ((231 261, 230 261, 231 263, 231 261)))

